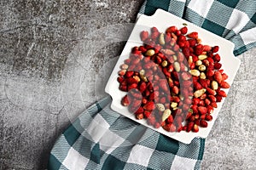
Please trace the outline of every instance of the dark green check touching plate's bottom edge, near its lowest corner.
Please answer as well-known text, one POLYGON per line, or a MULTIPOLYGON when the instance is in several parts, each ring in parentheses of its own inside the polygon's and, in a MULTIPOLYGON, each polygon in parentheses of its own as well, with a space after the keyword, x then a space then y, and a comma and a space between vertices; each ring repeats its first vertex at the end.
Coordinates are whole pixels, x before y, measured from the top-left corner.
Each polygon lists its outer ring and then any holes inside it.
POLYGON ((155 150, 166 151, 176 155, 178 150, 178 142, 175 139, 171 139, 165 135, 160 134, 155 150))

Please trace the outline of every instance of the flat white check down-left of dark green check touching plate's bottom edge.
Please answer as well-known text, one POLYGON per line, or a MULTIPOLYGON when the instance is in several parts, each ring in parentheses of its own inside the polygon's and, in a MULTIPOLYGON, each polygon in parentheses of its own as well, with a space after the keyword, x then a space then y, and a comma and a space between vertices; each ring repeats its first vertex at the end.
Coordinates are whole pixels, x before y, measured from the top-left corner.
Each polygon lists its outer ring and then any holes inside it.
POLYGON ((130 156, 127 160, 128 163, 136 163, 144 167, 148 167, 148 162, 154 150, 147 148, 143 145, 136 144, 133 146, 130 156))

